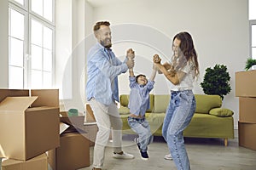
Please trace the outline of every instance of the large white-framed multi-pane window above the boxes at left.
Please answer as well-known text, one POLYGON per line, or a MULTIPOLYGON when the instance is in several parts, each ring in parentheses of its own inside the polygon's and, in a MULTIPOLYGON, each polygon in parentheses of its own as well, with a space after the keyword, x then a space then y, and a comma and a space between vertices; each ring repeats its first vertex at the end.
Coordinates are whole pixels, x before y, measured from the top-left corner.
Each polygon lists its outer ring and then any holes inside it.
POLYGON ((9 88, 51 88, 55 0, 9 0, 9 88))

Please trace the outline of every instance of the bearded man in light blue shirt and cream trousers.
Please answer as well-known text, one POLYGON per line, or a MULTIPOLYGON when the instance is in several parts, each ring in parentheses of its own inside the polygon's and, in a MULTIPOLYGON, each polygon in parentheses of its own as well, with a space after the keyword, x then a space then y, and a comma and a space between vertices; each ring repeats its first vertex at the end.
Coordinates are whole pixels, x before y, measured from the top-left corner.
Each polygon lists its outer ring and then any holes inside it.
MULTIPOLYGON (((119 101, 118 76, 134 66, 134 59, 121 62, 111 50, 111 30, 108 21, 97 22, 94 26, 96 44, 87 56, 86 96, 96 118, 98 132, 94 147, 93 170, 102 170, 104 150, 113 128, 113 157, 132 159, 121 148, 122 121, 115 101, 119 101)), ((128 54, 128 52, 127 52, 128 54)), ((131 54, 130 54, 131 55, 131 54)))

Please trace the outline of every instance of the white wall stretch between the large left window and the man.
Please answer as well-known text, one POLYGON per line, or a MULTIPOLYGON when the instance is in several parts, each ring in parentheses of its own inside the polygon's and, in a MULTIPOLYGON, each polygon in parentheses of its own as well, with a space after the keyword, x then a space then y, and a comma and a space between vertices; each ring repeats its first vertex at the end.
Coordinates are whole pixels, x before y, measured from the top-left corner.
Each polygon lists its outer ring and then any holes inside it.
POLYGON ((92 7, 85 0, 56 1, 56 75, 61 110, 84 112, 85 35, 92 7))

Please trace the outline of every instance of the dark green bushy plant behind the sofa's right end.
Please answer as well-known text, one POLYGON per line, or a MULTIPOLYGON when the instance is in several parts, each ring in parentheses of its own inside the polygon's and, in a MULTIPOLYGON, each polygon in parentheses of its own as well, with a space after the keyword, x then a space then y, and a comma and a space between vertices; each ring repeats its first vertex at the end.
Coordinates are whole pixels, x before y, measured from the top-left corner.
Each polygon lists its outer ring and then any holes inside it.
POLYGON ((224 99, 224 95, 231 91, 230 73, 227 71, 227 66, 215 65, 213 68, 208 67, 200 85, 205 94, 218 94, 221 99, 224 99))

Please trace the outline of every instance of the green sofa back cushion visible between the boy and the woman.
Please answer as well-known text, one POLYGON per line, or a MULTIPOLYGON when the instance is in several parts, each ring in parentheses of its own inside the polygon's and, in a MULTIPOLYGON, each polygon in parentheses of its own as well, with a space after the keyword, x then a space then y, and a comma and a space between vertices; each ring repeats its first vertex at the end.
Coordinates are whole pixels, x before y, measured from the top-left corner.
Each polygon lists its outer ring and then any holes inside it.
POLYGON ((169 105, 170 95, 168 94, 156 94, 154 95, 154 110, 155 113, 166 113, 166 109, 169 105))

